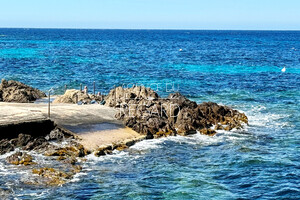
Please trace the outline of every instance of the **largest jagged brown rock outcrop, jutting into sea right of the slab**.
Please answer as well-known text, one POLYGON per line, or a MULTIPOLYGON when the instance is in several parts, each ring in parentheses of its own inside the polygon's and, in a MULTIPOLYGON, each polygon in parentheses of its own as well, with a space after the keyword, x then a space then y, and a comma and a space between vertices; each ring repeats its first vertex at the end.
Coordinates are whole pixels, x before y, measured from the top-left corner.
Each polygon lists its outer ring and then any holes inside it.
POLYGON ((245 114, 227 106, 212 102, 197 105, 179 93, 159 98, 145 87, 115 88, 106 97, 105 105, 119 108, 116 117, 147 138, 189 135, 197 131, 214 135, 215 130, 242 128, 243 123, 248 123, 245 114))

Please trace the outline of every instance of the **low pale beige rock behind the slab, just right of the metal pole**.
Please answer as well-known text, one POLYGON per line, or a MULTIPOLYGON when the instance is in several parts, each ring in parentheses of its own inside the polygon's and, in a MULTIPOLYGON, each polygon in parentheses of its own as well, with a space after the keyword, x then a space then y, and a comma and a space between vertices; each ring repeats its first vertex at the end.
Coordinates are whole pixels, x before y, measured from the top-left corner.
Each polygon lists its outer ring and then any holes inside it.
POLYGON ((53 103, 78 103, 90 104, 98 102, 100 103, 103 100, 104 96, 96 96, 91 94, 86 94, 80 90, 67 90, 64 95, 57 97, 53 103))

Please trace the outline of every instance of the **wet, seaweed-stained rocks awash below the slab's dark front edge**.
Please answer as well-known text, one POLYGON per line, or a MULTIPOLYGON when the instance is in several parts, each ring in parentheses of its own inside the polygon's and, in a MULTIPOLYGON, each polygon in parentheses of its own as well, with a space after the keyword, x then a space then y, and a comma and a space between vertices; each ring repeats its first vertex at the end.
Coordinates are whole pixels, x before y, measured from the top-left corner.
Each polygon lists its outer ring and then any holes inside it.
POLYGON ((46 137, 20 133, 17 138, 1 140, 0 153, 11 151, 15 152, 5 158, 6 163, 34 174, 24 183, 51 186, 62 185, 79 173, 82 157, 89 153, 60 128, 55 128, 46 137), (44 158, 35 158, 41 156, 44 158))

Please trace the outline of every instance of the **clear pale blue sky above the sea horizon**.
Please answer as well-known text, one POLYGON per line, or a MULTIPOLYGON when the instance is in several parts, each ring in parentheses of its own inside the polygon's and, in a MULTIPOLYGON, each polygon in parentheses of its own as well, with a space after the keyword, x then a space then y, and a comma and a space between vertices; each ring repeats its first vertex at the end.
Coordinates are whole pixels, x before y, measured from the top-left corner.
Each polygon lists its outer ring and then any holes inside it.
POLYGON ((0 0, 0 27, 300 30, 300 0, 0 0))

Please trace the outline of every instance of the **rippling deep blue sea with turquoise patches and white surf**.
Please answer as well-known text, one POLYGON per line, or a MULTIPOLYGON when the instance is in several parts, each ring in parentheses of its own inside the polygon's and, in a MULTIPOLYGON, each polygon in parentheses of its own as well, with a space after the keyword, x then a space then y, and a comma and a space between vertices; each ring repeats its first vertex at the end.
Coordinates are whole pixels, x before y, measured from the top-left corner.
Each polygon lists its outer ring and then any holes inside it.
POLYGON ((101 92, 159 85, 164 96, 174 84, 198 103, 249 117, 240 131, 89 156, 83 173, 60 188, 21 184, 15 177, 22 173, 4 169, 0 158, 0 187, 17 198, 300 198, 300 31, 0 29, 0 78, 57 94, 65 84, 91 88, 95 81, 101 92))

